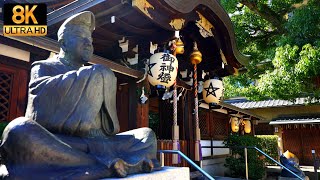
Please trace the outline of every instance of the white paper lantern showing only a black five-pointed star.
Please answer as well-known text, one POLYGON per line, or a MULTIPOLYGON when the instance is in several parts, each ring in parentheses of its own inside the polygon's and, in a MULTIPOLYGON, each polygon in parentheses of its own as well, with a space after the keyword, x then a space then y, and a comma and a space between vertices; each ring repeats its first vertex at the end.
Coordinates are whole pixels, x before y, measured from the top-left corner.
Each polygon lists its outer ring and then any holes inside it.
POLYGON ((219 79, 209 79, 203 84, 203 99, 206 103, 219 104, 223 96, 223 84, 219 79))

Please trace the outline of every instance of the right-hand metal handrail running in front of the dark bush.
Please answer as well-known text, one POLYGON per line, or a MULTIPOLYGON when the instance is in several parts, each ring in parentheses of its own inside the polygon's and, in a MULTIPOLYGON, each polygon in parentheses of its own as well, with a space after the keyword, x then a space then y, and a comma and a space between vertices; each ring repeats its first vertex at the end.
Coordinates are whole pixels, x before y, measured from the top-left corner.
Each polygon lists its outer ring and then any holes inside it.
MULTIPOLYGON (((295 174, 294 172, 292 172, 290 169, 288 169, 287 167, 285 167, 284 165, 282 165, 281 163, 279 163, 278 161, 276 161, 275 159, 273 159, 272 157, 270 157, 268 154, 266 154, 265 152, 263 152, 261 149, 257 148, 256 146, 202 146, 202 148, 244 148, 245 149, 245 159, 246 159, 246 176, 248 176, 248 166, 247 166, 247 153, 246 153, 246 149, 255 149, 256 151, 260 152, 261 154, 263 154, 264 156, 266 156, 267 158, 269 158, 270 160, 272 160, 273 162, 275 162, 276 164, 278 164, 279 166, 281 166, 283 169, 287 170, 288 172, 290 172, 292 175, 294 175, 295 177, 297 177, 300 180, 304 180, 303 178, 301 178, 300 176, 298 176, 297 174, 295 174)), ((247 177, 248 179, 248 177, 247 177)))

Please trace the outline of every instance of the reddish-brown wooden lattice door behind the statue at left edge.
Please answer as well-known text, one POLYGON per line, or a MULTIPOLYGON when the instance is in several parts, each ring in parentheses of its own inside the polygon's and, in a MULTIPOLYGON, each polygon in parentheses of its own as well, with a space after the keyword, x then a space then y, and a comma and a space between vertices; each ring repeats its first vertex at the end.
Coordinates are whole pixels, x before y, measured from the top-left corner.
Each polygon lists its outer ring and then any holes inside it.
POLYGON ((24 115, 28 73, 0 63, 0 122, 24 115))

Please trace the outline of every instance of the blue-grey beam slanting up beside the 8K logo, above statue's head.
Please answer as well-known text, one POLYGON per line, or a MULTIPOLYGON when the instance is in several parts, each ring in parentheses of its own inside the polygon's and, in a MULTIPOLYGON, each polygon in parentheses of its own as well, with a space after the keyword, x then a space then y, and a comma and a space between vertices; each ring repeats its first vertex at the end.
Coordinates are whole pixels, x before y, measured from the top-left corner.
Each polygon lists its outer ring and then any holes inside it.
POLYGON ((47 25, 51 26, 68 17, 87 10, 105 0, 77 0, 47 14, 47 25))

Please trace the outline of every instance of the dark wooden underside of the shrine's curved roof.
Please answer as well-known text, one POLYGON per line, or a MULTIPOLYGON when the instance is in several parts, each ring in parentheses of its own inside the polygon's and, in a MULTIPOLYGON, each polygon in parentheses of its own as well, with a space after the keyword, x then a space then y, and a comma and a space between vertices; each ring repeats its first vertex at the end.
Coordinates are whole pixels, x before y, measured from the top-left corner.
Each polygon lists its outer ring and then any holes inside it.
MULTIPOLYGON (((174 36, 174 28, 170 27, 171 19, 184 18, 185 24, 180 31, 182 41, 185 44, 184 55, 179 55, 179 70, 193 69, 189 62, 189 54, 192 52, 193 42, 196 41, 199 50, 203 54, 203 61, 199 64, 199 73, 202 70, 214 71, 219 76, 227 76, 233 73, 234 68, 240 68, 242 64, 241 55, 235 48, 235 40, 230 20, 227 14, 221 8, 216 0, 204 2, 189 2, 181 0, 147 0, 154 9, 149 9, 150 17, 147 17, 137 8, 132 6, 131 0, 100 0, 92 7, 84 8, 92 11, 96 17, 96 29, 93 32, 93 45, 95 48, 94 54, 106 59, 123 64, 123 59, 133 58, 135 53, 133 47, 139 45, 139 63, 138 65, 130 66, 131 68, 141 70, 143 60, 149 58, 150 41, 157 43, 160 49, 168 43, 174 36), (101 2, 100 2, 101 1, 101 2), (173 6, 181 4, 181 7, 173 6), (202 5, 201 5, 202 4, 202 5), (217 6, 219 5, 219 6, 217 6), (213 7, 215 6, 215 7, 213 7), (182 8, 182 9, 181 9, 182 8), (191 11, 190 11, 191 10, 191 11), (186 11, 186 12, 181 12, 186 11), (214 26, 212 29, 213 37, 204 38, 199 33, 199 28, 195 22, 199 19, 198 12, 204 15, 208 21, 214 26), (224 14, 223 14, 224 13, 224 14), (111 17, 115 16, 115 22, 111 23, 111 17), (129 40, 128 52, 122 53, 119 47, 119 40, 124 38, 129 40), (224 52, 227 63, 231 68, 222 68, 222 60, 220 49, 224 52)), ((8 0, 6 3, 46 3, 48 13, 56 14, 56 17, 66 16, 76 12, 75 6, 73 9, 68 9, 69 3, 74 3, 72 0, 8 0), (59 9, 60 8, 60 9, 59 9), (62 16, 61 15, 61 16, 62 16)), ((78 0, 86 5, 85 0, 78 0)), ((3 3, 3 2, 2 2, 3 3)), ((70 16, 69 15, 69 16, 70 16)), ((0 16, 2 19, 2 15, 0 16)), ((49 24, 48 37, 57 39, 56 32, 62 24, 63 19, 57 23, 49 24)), ((244 58, 243 58, 244 59, 244 58)), ((201 77, 200 74, 198 77, 201 77)))

